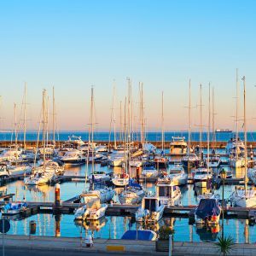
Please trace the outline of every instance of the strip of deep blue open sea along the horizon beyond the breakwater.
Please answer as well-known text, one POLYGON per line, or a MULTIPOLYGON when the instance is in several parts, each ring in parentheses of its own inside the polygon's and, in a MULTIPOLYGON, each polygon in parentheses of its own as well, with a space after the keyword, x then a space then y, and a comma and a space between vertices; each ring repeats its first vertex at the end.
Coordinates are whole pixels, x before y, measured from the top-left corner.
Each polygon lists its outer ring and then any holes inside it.
MULTIPOLYGON (((88 140, 88 132, 86 131, 61 131, 60 133, 56 134, 56 139, 59 139, 60 141, 65 141, 68 139, 68 136, 75 135, 77 137, 81 137, 84 141, 88 140)), ((234 137, 234 133, 216 133, 216 140, 219 142, 227 142, 230 137, 234 137)), ((185 137, 186 140, 188 140, 188 132, 187 131, 169 131, 165 133, 165 141, 172 141, 172 137, 185 137)), ((119 132, 116 134, 117 140, 119 140, 119 132)), ((134 132, 132 134, 132 137, 134 140, 140 140, 140 134, 137 132, 134 132)), ((212 133, 211 133, 212 137, 212 133)), ((243 133, 239 133, 239 137, 243 139, 243 133)), ((149 142, 157 142, 161 141, 161 133, 160 132, 148 132, 146 134, 146 138, 149 142)), ((36 141, 38 139, 38 131, 28 131, 26 133, 26 140, 27 141, 36 141)), ((42 139, 42 134, 40 134, 40 139, 42 139)), ((49 140, 52 139, 52 135, 49 133, 49 140)), ((14 141, 15 135, 12 132, 0 132, 0 141, 14 141)), ((18 134, 18 140, 23 140, 23 133, 20 132, 18 134)), ((108 132, 95 132, 94 133, 94 140, 95 141, 102 141, 102 142, 108 142, 109 140, 109 133, 108 132)), ((110 140, 113 141, 113 132, 111 133, 110 140)), ((199 132, 192 132, 191 133, 191 140, 192 141, 199 141, 200 135, 199 132)), ((256 140, 256 132, 247 132, 247 140, 249 142, 254 142, 256 140)), ((202 133, 202 141, 207 141, 207 132, 202 133)))

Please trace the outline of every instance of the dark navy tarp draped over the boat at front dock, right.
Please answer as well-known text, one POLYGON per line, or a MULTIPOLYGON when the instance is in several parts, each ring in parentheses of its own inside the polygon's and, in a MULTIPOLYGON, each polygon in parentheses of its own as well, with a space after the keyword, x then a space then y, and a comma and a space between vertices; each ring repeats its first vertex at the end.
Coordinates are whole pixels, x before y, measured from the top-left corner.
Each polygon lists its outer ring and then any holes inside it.
POLYGON ((201 199, 199 206, 195 210, 195 215, 205 219, 209 216, 218 216, 220 209, 215 199, 201 199))

